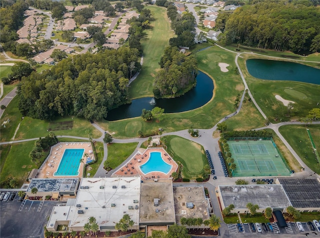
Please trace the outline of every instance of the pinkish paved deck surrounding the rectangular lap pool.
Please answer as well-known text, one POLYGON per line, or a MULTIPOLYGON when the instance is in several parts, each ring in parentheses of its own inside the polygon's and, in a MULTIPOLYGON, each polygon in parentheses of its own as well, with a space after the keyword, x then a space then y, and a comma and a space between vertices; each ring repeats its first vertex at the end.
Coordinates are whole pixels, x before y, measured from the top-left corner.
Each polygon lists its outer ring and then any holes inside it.
MULTIPOLYGON (((89 153, 89 150, 92 150, 90 142, 59 142, 51 147, 50 154, 44 160, 43 164, 38 170, 36 178, 73 178, 73 177, 82 177, 83 173, 83 163, 80 163, 79 174, 77 176, 53 176, 53 173, 57 170, 59 163, 61 161, 64 150, 67 148, 83 148, 84 153, 93 156, 93 153, 89 153), (51 164, 52 166, 49 166, 51 164)), ((82 157, 83 158, 83 157, 82 157)), ((84 159, 84 158, 83 158, 84 159)))

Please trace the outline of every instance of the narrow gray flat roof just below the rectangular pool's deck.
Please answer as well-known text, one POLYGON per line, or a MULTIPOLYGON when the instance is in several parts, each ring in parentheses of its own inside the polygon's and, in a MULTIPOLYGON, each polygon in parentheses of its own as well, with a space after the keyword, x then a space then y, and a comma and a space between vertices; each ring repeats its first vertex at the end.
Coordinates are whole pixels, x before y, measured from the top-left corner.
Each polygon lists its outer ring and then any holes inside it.
POLYGON ((32 187, 38 191, 75 191, 78 178, 33 178, 27 188, 27 192, 32 187))

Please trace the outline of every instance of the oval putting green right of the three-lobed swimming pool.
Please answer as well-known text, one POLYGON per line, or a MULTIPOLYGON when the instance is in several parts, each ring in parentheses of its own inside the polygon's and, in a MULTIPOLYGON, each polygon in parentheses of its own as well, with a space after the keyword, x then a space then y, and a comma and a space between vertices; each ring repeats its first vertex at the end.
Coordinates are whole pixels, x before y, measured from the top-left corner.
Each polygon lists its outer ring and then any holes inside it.
POLYGON ((184 160, 187 170, 191 173, 200 173, 203 170, 201 145, 181 137, 172 138, 170 145, 174 153, 184 160))

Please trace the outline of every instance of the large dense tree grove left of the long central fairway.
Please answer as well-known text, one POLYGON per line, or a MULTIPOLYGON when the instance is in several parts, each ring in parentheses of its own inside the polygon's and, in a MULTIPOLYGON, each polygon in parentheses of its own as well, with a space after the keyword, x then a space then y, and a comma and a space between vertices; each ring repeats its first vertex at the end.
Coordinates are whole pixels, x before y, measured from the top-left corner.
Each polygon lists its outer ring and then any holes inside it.
POLYGON ((39 119, 106 117, 109 109, 129 102, 128 78, 141 67, 137 57, 137 49, 122 46, 62 59, 50 70, 22 78, 18 108, 22 115, 39 119))

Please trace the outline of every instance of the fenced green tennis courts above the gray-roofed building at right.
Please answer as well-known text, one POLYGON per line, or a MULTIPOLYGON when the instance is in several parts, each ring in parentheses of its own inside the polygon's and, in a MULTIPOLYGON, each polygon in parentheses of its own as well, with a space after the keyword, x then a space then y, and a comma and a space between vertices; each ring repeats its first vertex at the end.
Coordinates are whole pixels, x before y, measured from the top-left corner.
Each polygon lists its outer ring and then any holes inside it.
POLYGON ((236 164, 233 176, 290 175, 273 140, 228 140, 227 143, 236 164))

